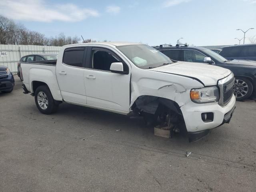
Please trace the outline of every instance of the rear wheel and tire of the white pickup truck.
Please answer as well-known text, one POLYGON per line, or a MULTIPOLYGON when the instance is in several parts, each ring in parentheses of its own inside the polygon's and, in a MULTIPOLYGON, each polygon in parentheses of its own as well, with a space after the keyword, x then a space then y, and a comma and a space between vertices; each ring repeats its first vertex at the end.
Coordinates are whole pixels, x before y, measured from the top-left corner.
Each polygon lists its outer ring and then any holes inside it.
POLYGON ((36 89, 35 102, 38 110, 42 114, 52 114, 58 109, 58 105, 54 102, 50 89, 44 85, 36 89))

